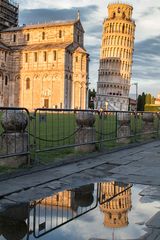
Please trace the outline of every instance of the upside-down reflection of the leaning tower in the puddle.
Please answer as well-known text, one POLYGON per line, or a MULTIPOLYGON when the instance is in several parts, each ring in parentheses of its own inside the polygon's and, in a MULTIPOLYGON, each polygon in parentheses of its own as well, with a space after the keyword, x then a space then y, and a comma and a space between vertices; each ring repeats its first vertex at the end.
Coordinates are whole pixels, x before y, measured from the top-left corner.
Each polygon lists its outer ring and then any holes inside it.
MULTIPOLYGON (((129 185, 116 182, 101 183, 101 199, 109 199, 124 191, 129 185)), ((105 201, 104 201, 105 202, 105 201)), ((100 206, 104 213, 104 225, 109 228, 122 228, 128 225, 128 211, 131 209, 131 188, 117 195, 110 202, 100 206)))

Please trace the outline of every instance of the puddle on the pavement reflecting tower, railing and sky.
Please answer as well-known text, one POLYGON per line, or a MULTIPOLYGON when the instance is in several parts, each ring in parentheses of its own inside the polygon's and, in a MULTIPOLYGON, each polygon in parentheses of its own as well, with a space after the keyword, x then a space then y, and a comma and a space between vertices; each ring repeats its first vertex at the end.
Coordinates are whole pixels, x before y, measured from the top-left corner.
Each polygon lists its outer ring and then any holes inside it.
POLYGON ((101 182, 10 207, 0 214, 0 239, 139 239, 160 208, 160 201, 139 195, 143 189, 101 182))

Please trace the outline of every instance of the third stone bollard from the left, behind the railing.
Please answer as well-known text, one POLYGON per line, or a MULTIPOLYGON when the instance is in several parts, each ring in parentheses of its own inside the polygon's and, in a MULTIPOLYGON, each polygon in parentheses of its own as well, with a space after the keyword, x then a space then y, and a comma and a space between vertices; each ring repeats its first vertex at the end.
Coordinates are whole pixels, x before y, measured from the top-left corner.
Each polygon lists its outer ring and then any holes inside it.
POLYGON ((117 142, 130 143, 129 137, 131 136, 131 119, 128 113, 118 113, 118 129, 117 129, 117 142))

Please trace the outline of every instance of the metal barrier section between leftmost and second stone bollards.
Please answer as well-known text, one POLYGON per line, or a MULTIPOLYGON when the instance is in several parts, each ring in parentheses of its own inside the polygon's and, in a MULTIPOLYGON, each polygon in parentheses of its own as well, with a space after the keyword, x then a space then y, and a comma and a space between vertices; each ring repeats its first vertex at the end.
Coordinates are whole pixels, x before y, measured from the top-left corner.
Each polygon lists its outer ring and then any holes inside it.
MULTIPOLYGON (((90 110, 36 109, 34 128, 36 152, 83 145, 84 143, 76 143, 75 141, 76 135, 82 129, 82 126, 76 124, 76 115, 86 112, 93 113, 97 118, 100 115, 98 111, 90 110)), ((98 143, 99 140, 90 143, 95 142, 98 143)))

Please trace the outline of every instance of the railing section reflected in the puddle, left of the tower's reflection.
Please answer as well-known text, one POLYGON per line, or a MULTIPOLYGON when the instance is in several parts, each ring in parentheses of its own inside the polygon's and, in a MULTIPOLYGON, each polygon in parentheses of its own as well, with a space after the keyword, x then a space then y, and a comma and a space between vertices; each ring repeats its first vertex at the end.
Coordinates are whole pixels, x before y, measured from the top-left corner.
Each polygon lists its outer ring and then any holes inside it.
POLYGON ((59 192, 34 205, 33 235, 47 233, 83 216, 98 205, 98 188, 94 184, 59 192))

